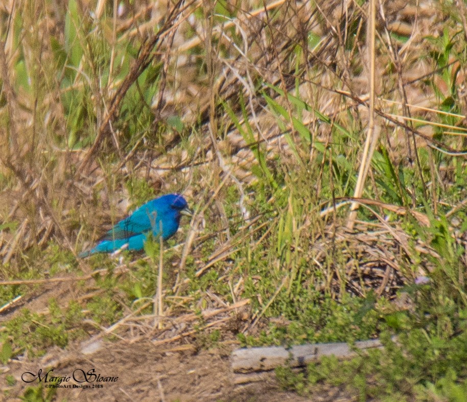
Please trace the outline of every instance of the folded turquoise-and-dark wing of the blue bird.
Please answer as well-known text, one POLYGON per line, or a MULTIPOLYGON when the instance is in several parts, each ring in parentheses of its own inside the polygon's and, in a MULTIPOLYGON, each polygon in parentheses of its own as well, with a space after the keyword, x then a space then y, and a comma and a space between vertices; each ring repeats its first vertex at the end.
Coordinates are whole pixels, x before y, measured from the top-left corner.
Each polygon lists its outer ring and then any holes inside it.
POLYGON ((156 224, 156 211, 150 211, 144 206, 133 212, 128 218, 118 222, 101 240, 128 239, 148 232, 156 224))

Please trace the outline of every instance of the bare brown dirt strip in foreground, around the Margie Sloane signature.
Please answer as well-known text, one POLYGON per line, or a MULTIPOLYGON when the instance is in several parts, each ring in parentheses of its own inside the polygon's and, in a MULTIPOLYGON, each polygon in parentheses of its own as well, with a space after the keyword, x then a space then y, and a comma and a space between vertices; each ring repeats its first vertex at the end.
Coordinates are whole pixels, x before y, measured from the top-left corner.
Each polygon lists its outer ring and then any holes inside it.
MULTIPOLYGON (((9 364, 7 373, 0 379, 5 390, 6 374, 13 375, 17 383, 9 389, 8 401, 19 401, 25 389, 37 385, 36 378, 31 384, 27 381, 37 376, 42 368, 42 378, 47 363, 55 360, 50 376, 69 376, 69 381, 59 388, 55 400, 80 401, 236 401, 236 402, 350 402, 355 400, 339 389, 320 389, 311 397, 286 392, 277 384, 274 374, 265 381, 249 385, 234 385, 234 373, 230 367, 230 352, 234 345, 221 346, 213 350, 194 351, 190 345, 156 348, 150 341, 129 344, 128 342, 104 343, 94 354, 64 353, 57 348, 48 353, 46 359, 30 362, 14 361, 9 364), (185 350, 182 350, 185 349, 185 350), (90 387, 73 388, 74 381, 82 372, 94 373, 100 377, 118 377, 114 382, 93 382, 90 387), (82 371, 81 371, 82 370, 82 371), (24 374, 31 373, 31 374, 24 374), (3 377, 3 378, 2 378, 3 377), (102 388, 101 388, 102 386, 102 388)), ((73 349, 73 348, 69 348, 73 349)), ((90 377, 88 377, 90 378, 90 377)), ((95 378, 95 377, 94 377, 95 378)), ((42 379, 44 383, 44 378, 42 379)), ((86 383, 84 383, 86 384, 86 383)))

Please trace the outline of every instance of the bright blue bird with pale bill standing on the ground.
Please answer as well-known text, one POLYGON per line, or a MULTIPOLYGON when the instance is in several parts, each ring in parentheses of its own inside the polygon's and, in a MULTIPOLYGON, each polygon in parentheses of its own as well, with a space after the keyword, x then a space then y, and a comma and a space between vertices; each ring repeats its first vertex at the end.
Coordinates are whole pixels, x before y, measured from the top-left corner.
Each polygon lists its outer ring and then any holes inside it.
POLYGON ((142 250, 150 233, 155 238, 162 234, 162 239, 166 240, 178 230, 181 215, 191 214, 186 200, 180 194, 162 195, 118 222, 96 247, 78 256, 83 258, 95 253, 111 253, 124 245, 127 245, 128 250, 142 250))

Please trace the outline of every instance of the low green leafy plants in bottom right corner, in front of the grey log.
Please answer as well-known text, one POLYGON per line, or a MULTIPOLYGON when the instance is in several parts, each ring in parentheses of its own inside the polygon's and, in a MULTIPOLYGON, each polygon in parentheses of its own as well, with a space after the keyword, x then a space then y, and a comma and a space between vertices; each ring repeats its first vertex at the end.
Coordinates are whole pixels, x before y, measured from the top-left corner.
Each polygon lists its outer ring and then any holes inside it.
POLYGON ((384 348, 359 352, 351 360, 325 356, 300 373, 280 367, 277 378, 284 388, 303 395, 324 383, 358 391, 361 401, 467 400, 465 332, 448 337, 412 327, 395 342, 383 331, 381 340, 384 348))

